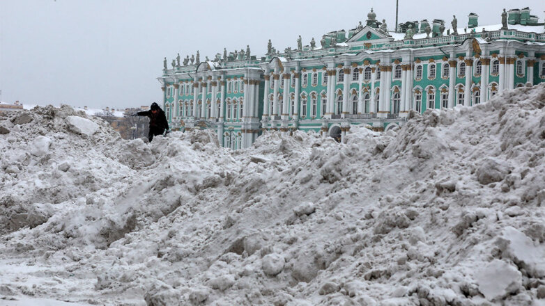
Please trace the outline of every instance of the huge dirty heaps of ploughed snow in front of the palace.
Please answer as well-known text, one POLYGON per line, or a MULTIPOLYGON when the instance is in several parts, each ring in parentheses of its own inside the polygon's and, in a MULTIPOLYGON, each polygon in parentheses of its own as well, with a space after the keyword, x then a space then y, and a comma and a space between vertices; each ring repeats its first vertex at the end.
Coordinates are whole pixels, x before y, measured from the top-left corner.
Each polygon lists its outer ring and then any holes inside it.
POLYGON ((542 83, 236 152, 0 115, 0 305, 545 305, 544 106, 542 83))

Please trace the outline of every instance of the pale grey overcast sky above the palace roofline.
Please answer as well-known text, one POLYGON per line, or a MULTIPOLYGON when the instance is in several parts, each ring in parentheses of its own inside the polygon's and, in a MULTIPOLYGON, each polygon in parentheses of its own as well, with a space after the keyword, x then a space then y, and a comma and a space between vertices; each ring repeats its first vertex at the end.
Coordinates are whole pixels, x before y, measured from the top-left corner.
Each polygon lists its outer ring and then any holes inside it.
MULTIPOLYGON (((445 19, 459 27, 470 12, 479 24, 500 24, 502 8, 524 8, 544 20, 544 0, 399 0, 399 22, 445 19), (514 7, 514 4, 516 7, 514 7)), ((201 61, 224 47, 265 53, 312 37, 352 29, 374 8, 395 24, 395 0, 167 1, 0 0, 0 90, 3 102, 125 108, 160 102, 156 80, 199 49, 201 61)))

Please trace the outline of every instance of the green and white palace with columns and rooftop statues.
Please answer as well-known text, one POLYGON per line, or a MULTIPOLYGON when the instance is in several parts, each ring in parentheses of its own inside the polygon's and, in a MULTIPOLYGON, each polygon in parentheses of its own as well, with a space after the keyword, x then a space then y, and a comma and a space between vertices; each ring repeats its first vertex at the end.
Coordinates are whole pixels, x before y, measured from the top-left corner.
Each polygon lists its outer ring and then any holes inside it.
POLYGON ((163 106, 173 129, 215 129, 224 147, 250 147, 267 130, 295 129, 342 139, 358 125, 387 131, 408 112, 486 102, 502 90, 545 81, 545 25, 529 8, 498 12, 480 26, 470 13, 397 24, 388 31, 371 9, 348 32, 265 56, 250 47, 178 54, 162 77, 163 106), (501 21, 501 23, 499 23, 501 21), (446 31, 445 31, 446 30, 446 31))

